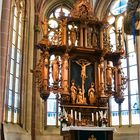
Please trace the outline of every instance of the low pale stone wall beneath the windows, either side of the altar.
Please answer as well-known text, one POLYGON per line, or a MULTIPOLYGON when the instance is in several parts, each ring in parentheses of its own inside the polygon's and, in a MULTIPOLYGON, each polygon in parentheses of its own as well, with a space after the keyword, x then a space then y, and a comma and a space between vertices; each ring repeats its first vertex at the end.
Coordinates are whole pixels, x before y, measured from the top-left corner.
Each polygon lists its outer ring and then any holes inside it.
MULTIPOLYGON (((16 124, 5 124, 5 140, 31 140, 31 134, 16 124)), ((36 135, 36 140, 63 140, 59 128, 47 129, 42 134, 36 135)), ((140 128, 122 127, 115 128, 114 140, 140 140, 140 128)))

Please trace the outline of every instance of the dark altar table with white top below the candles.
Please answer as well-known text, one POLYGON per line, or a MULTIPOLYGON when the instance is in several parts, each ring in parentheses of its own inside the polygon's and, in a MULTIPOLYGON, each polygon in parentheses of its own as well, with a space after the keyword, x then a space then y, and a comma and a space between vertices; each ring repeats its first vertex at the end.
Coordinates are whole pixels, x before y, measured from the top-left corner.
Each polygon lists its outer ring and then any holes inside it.
POLYGON ((113 140, 111 127, 77 127, 63 128, 64 140, 113 140))

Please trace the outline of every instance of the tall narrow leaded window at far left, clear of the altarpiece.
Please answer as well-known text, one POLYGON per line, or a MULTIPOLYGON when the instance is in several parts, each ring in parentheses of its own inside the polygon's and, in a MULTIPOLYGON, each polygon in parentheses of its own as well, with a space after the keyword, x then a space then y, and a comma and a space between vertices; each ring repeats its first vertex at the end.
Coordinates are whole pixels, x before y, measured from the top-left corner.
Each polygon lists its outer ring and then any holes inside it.
POLYGON ((7 66, 5 121, 20 123, 24 1, 12 1, 7 66))

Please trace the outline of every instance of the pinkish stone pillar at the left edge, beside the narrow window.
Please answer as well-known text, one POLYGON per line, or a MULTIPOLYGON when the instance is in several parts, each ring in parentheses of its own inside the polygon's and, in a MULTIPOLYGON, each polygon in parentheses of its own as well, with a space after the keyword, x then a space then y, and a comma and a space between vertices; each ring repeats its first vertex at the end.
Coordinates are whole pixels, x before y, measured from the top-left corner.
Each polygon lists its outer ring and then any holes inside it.
POLYGON ((0 123, 4 120, 4 96, 5 96, 5 86, 6 86, 6 66, 7 66, 7 54, 8 54, 8 37, 9 37, 9 18, 10 18, 10 7, 11 0, 3 0, 1 14, 1 44, 0 44, 0 123))

